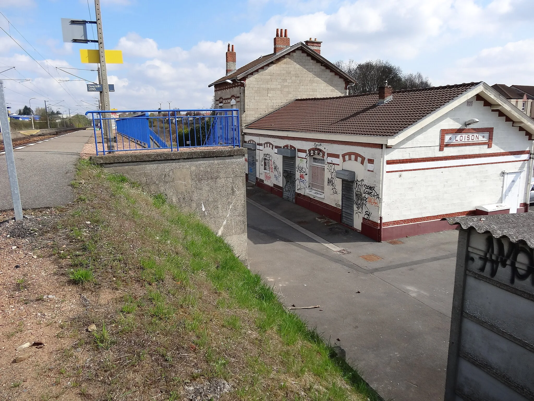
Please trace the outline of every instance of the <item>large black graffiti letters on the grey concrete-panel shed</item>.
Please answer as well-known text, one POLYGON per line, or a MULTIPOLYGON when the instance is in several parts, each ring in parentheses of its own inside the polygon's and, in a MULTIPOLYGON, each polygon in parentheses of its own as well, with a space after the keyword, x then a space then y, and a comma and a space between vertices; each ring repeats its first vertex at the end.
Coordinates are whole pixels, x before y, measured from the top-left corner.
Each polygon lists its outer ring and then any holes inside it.
MULTIPOLYGON (((489 274, 490 277, 495 277, 500 268, 510 268, 510 284, 514 284, 515 280, 524 281, 530 277, 530 282, 534 286, 534 255, 532 249, 521 242, 506 241, 508 246, 501 238, 493 238, 488 235, 486 237, 486 249, 484 256, 479 256, 478 259, 482 261, 482 265, 478 271, 489 274), (526 269, 518 268, 518 259, 523 259, 526 269), (487 269, 487 271, 486 271, 487 269)), ((469 257, 470 262, 474 262, 473 256, 469 257)))

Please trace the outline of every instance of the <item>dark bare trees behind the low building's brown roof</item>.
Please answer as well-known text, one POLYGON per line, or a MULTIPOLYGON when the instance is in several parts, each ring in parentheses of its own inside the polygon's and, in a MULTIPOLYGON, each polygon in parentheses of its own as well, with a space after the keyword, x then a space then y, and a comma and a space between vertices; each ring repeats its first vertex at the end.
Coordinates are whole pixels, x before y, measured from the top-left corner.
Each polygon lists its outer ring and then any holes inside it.
POLYGON ((354 60, 336 61, 335 65, 354 78, 356 84, 350 87, 350 95, 376 92, 384 82, 393 89, 428 88, 431 86, 428 77, 418 72, 404 74, 402 68, 389 61, 372 60, 356 63, 354 60))

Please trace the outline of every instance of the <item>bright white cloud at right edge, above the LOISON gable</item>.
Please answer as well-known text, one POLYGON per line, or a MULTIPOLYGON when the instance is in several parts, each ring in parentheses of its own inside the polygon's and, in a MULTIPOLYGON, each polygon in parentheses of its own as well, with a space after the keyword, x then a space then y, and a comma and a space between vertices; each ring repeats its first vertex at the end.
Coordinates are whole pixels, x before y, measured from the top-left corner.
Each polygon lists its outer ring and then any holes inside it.
POLYGON ((509 42, 483 49, 476 56, 460 59, 445 71, 449 82, 485 81, 490 85, 534 85, 534 39, 509 42))

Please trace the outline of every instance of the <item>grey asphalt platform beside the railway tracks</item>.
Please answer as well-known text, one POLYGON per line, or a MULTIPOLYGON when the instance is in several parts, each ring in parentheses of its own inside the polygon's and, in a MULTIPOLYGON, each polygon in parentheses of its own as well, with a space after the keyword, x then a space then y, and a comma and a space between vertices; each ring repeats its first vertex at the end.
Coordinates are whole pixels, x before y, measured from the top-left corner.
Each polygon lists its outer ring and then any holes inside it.
MULTIPOLYGON (((23 209, 65 205, 73 201, 70 181, 76 160, 92 130, 59 135, 15 149, 23 209)), ((0 155, 0 210, 13 209, 5 154, 0 155)))

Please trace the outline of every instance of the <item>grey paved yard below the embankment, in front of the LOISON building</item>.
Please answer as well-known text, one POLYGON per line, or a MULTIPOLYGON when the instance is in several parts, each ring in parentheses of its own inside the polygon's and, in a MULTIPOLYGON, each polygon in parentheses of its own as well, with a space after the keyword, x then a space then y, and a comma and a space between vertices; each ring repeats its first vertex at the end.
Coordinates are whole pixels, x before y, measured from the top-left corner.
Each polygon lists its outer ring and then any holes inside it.
POLYGON ((247 196, 260 206, 247 204, 250 269, 286 306, 320 305, 296 312, 341 345, 384 399, 443 399, 458 233, 376 243, 260 188, 247 196), (351 253, 335 253, 337 246, 351 253), (382 259, 360 258, 368 254, 382 259))

